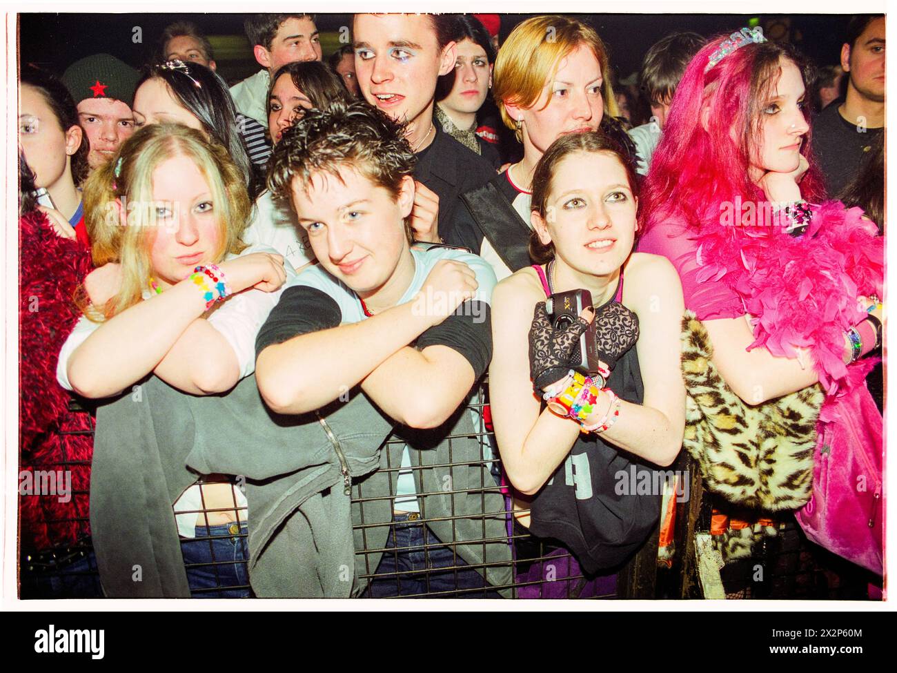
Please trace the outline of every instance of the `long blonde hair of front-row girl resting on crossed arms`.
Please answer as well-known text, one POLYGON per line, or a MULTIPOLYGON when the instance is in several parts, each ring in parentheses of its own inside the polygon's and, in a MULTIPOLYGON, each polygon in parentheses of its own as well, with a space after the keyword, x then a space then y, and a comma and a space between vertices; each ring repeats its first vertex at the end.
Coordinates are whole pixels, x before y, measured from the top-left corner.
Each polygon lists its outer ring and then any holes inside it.
POLYGON ((91 240, 93 264, 121 265, 121 288, 103 306, 79 303, 91 320, 101 321, 140 302, 152 277, 150 249, 156 232, 152 173, 173 157, 185 156, 208 182, 222 232, 213 261, 246 248, 240 240, 252 212, 246 181, 222 145, 180 124, 153 124, 138 130, 108 163, 84 184, 84 223, 91 240), (117 170, 118 167, 118 170, 117 170))

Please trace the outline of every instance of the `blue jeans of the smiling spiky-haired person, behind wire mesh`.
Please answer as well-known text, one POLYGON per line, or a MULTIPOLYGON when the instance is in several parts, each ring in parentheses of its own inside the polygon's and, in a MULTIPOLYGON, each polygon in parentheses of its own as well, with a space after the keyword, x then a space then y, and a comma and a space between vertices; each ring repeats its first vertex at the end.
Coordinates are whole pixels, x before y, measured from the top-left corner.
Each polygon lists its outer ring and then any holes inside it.
POLYGON ((467 567, 420 520, 409 520, 408 514, 393 515, 386 546, 365 594, 368 598, 501 598, 487 589, 483 575, 467 567))

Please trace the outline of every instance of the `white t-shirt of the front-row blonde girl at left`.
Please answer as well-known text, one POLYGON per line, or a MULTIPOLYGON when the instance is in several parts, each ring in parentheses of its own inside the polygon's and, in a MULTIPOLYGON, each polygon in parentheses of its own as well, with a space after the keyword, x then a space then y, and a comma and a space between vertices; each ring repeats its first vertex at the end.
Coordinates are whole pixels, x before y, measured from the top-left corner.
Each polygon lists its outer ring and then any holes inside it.
MULTIPOLYGON (((248 255, 253 252, 276 252, 275 249, 264 245, 249 246, 243 250, 239 256, 229 255, 227 259, 233 259, 248 255)), ((239 364, 239 376, 244 378, 256 371, 256 335, 258 329, 265 323, 268 313, 274 308, 280 300, 283 290, 288 287, 296 278, 296 273, 284 264, 286 269, 286 283, 273 293, 266 293, 262 290, 249 289, 241 293, 232 294, 223 302, 215 305, 213 312, 208 316, 209 324, 218 330, 228 344, 231 345, 234 354, 237 356, 239 364)), ((144 300, 154 296, 149 289, 144 291, 144 300)), ((57 380, 59 385, 66 390, 72 389, 72 384, 68 380, 68 361, 72 354, 82 345, 87 337, 100 328, 101 323, 92 322, 85 316, 78 319, 72 334, 65 339, 65 344, 59 352, 59 363, 57 364, 57 380)), ((246 496, 239 490, 233 488, 234 502, 239 508, 246 507, 246 496)), ((192 485, 181 494, 177 503, 174 503, 174 511, 196 511, 202 509, 202 494, 199 485, 192 485)), ((239 512, 240 520, 245 520, 245 510, 239 512)), ((178 522, 178 532, 184 538, 196 537, 195 527, 197 525, 205 525, 205 517, 202 513, 179 514, 175 517, 178 522)))

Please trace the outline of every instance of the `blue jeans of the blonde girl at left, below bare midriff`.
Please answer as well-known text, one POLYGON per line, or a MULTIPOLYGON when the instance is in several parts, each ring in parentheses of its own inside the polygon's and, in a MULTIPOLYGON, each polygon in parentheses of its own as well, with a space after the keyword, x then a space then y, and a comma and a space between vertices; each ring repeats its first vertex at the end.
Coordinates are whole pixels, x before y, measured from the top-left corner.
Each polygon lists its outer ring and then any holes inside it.
POLYGON ((245 522, 196 526, 196 538, 180 538, 187 582, 195 599, 247 599, 251 596, 245 522))

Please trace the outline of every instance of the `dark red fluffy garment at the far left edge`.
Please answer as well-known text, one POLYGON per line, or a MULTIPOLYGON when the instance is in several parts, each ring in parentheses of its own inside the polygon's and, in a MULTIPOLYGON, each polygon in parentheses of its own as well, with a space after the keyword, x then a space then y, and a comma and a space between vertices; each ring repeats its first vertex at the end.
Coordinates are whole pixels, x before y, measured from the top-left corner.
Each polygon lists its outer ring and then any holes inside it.
POLYGON ((70 395, 57 383, 56 369, 59 350, 79 316, 75 289, 90 268, 88 249, 57 236, 44 214, 20 219, 20 469, 72 472, 68 502, 58 495, 20 496, 23 551, 70 545, 89 533, 91 416, 68 411, 70 395), (83 434, 68 434, 73 431, 83 434))

